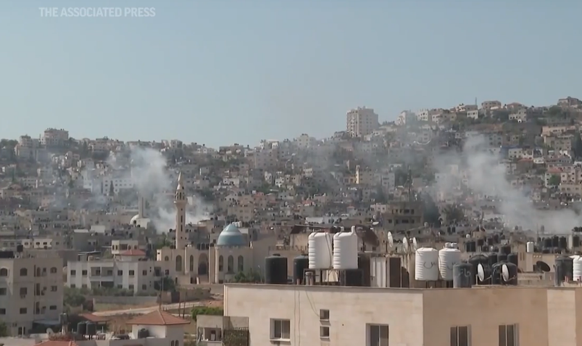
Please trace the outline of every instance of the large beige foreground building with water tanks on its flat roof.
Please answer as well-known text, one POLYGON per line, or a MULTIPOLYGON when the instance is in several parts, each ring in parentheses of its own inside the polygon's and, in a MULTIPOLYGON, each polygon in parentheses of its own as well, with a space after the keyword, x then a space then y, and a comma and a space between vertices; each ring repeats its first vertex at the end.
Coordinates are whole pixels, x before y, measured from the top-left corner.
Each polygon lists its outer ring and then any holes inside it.
MULTIPOLYGON (((581 287, 227 284, 224 329, 213 334, 220 340, 227 326, 244 325, 254 346, 577 345, 581 293, 581 287)), ((199 334, 209 340, 206 328, 216 325, 201 322, 199 334)))

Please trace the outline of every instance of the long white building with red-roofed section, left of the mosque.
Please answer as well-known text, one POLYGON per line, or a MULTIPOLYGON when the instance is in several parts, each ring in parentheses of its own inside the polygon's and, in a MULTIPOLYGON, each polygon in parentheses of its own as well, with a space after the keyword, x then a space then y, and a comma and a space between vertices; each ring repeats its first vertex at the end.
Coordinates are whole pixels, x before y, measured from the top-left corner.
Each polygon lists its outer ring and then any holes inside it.
POLYGON ((67 286, 85 289, 98 287, 126 289, 134 293, 152 292, 161 277, 161 268, 145 259, 141 250, 127 250, 113 259, 100 259, 90 254, 79 255, 67 262, 67 286))

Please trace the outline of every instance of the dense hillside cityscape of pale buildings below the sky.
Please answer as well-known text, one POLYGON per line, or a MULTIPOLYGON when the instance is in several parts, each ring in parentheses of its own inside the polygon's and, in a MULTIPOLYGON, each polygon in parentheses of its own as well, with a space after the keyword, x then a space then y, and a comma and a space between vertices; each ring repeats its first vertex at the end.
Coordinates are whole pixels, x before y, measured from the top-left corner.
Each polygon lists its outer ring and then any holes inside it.
POLYGON ((343 116, 256 146, 2 139, 0 344, 573 345, 549 301, 582 280, 581 100, 343 116))

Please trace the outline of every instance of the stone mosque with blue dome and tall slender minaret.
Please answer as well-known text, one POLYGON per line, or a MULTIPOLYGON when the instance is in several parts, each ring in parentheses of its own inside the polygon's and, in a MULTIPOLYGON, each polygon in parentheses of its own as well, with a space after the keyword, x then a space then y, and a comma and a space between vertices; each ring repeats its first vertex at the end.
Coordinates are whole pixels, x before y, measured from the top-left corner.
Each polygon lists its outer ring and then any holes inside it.
POLYGON ((191 244, 186 232, 186 192, 182 173, 174 196, 176 207, 175 244, 157 250, 165 275, 177 284, 219 284, 233 279, 240 271, 253 268, 253 253, 247 235, 236 224, 229 224, 215 244, 191 244))

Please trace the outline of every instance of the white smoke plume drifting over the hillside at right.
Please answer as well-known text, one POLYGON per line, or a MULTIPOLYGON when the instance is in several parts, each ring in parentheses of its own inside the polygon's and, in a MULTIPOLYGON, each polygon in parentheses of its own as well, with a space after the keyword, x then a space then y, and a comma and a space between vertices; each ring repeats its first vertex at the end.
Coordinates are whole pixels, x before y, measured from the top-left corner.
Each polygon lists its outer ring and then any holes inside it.
POLYGON ((511 185, 500 159, 500 154, 488 147, 482 136, 468 138, 462 152, 435 156, 433 167, 439 179, 432 188, 441 192, 441 196, 450 196, 464 187, 474 199, 494 199, 497 212, 504 215, 504 223, 512 228, 521 226, 535 231, 544 226, 547 233, 569 233, 582 225, 577 210, 538 210, 527 197, 527 190, 511 185))

